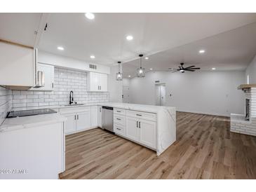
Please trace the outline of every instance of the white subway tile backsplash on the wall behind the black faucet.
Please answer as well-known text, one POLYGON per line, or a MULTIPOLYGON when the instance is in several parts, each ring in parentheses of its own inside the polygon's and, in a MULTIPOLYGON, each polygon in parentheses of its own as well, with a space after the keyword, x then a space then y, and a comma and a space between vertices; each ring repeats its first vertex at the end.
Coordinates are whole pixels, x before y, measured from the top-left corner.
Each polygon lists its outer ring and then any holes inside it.
POLYGON ((71 90, 74 92, 74 102, 109 102, 108 92, 86 91, 85 71, 55 67, 54 83, 53 91, 13 91, 13 110, 68 104, 71 90))

